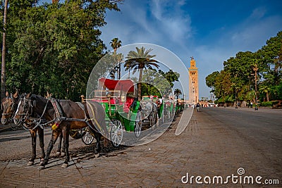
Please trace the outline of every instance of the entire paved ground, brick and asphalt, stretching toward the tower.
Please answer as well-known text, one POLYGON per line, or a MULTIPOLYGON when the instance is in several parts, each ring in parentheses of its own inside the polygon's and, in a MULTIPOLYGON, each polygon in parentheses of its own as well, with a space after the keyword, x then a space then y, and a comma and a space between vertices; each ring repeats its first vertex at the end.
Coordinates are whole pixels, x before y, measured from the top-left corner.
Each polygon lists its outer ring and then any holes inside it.
MULTIPOLYGON (((55 157, 45 170, 37 170, 39 159, 28 167, 29 133, 1 132, 0 187, 198 187, 197 181, 201 187, 282 187, 281 110, 202 108, 176 136, 179 119, 154 142, 104 149, 99 158, 92 155, 93 146, 71 139, 66 169, 63 158, 55 157), (219 176, 228 184, 216 182, 219 176), (246 176, 280 184, 244 184, 246 176)), ((51 132, 46 134, 49 139, 51 132)))

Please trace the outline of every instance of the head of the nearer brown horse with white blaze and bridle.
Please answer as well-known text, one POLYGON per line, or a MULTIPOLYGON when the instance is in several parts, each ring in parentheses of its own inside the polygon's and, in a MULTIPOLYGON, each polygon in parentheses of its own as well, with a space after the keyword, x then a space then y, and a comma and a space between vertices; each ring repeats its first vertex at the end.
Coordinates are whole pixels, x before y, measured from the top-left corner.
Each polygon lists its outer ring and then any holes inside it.
POLYGON ((29 120, 30 116, 32 115, 32 108, 36 103, 34 100, 35 99, 32 99, 31 94, 23 94, 20 96, 18 108, 13 118, 16 125, 19 125, 20 123, 26 123, 25 121, 29 120))

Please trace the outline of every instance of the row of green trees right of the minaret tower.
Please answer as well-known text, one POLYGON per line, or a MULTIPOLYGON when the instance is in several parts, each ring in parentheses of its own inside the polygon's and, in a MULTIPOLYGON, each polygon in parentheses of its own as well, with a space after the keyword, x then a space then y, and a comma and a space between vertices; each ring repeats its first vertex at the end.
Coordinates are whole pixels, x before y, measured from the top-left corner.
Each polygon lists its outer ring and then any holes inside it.
POLYGON ((261 101, 282 99, 282 32, 267 40, 262 49, 255 53, 240 51, 224 61, 223 66, 220 72, 206 77, 206 84, 218 101, 233 101, 231 95, 240 101, 255 101, 255 78, 261 101))

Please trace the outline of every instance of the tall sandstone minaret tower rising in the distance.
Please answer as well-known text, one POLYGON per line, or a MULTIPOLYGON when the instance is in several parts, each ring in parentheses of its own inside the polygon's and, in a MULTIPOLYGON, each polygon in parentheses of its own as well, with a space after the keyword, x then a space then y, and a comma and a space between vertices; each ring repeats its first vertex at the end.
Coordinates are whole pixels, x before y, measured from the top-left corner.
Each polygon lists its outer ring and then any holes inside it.
POLYGON ((191 57, 189 72, 189 101, 188 104, 197 104, 199 101, 198 68, 194 57, 191 57))

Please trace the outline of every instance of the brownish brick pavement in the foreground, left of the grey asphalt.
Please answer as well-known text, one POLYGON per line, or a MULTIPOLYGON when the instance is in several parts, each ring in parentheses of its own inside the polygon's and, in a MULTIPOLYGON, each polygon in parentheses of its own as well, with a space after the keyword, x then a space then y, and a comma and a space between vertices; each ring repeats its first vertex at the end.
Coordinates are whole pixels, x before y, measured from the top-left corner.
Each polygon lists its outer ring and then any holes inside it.
MULTIPOLYGON (((0 187, 198 187, 195 183, 183 184, 181 178, 187 173, 202 177, 237 175, 242 165, 248 174, 282 176, 272 168, 268 169, 269 173, 261 172, 259 163, 264 165, 262 161, 265 161, 261 151, 240 139, 238 132, 224 129, 226 125, 214 122, 206 113, 194 112, 188 127, 176 136, 179 119, 154 142, 123 146, 102 153, 99 158, 94 158, 93 146, 71 149, 68 168, 61 168, 63 158, 54 157, 44 170, 37 170, 39 159, 33 166, 27 166, 27 157, 0 161, 0 187)), ((202 187, 243 186, 204 184, 202 187)))

